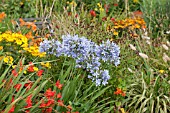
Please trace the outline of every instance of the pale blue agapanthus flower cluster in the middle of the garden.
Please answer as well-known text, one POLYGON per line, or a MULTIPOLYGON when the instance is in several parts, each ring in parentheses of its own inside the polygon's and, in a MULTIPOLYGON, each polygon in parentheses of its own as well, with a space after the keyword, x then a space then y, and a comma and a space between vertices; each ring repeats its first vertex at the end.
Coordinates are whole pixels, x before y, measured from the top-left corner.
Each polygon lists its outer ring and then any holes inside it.
POLYGON ((110 79, 109 71, 101 69, 101 61, 120 64, 120 48, 115 43, 107 40, 100 45, 78 35, 63 35, 62 42, 58 40, 44 40, 40 43, 40 52, 47 52, 56 57, 68 56, 76 61, 76 68, 86 69, 96 86, 106 85, 110 79))

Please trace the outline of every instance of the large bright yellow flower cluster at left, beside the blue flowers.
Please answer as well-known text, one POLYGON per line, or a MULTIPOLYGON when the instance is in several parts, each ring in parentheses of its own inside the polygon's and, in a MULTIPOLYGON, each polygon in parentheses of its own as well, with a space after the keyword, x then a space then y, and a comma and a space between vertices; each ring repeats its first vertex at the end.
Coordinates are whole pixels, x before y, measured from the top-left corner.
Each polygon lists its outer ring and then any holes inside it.
POLYGON ((1 41, 16 43, 33 56, 44 57, 46 54, 45 52, 40 53, 37 45, 29 46, 29 40, 22 34, 6 32, 0 35, 0 42, 1 41))

